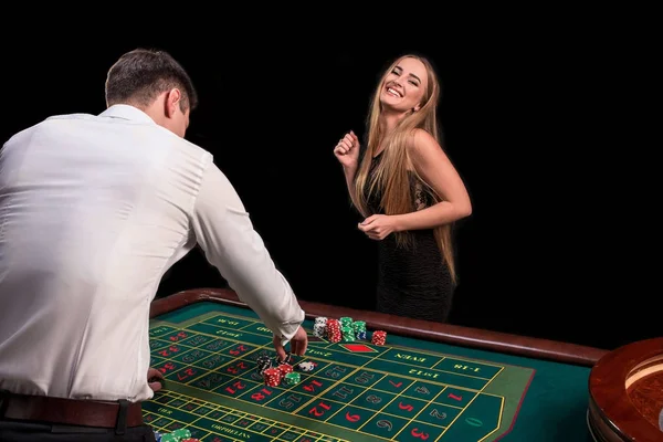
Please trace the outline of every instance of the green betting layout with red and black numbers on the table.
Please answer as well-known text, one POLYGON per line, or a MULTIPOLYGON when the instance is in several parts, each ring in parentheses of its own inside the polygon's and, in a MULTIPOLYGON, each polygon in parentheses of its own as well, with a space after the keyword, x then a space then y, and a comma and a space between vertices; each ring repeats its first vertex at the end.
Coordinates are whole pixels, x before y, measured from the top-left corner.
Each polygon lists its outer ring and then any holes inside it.
POLYGON ((151 366, 166 381, 144 404, 146 421, 204 442, 491 441, 511 427, 533 376, 442 355, 432 343, 373 344, 371 330, 330 341, 313 334, 316 323, 305 327, 308 350, 293 366, 307 369, 275 386, 259 366, 275 355, 272 334, 252 312, 209 303, 155 318, 151 366))

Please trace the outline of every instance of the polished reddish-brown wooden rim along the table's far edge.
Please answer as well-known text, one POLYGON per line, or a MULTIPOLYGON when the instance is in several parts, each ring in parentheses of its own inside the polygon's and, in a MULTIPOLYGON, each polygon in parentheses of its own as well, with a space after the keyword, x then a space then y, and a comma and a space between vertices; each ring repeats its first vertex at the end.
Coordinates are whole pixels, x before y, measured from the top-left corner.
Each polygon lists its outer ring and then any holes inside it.
MULTIPOLYGON (((151 304, 150 317, 162 315, 199 301, 212 301, 246 306, 231 290, 198 288, 179 292, 154 301, 151 304)), ((385 315, 377 312, 345 308, 306 301, 299 301, 299 305, 306 313, 306 317, 309 319, 314 319, 317 316, 336 318, 348 316, 355 319, 365 320, 367 327, 370 329, 381 329, 388 334, 392 333, 418 339, 427 339, 562 364, 592 367, 601 357, 608 354, 608 351, 603 349, 575 344, 517 336, 457 325, 439 324, 428 320, 417 320, 385 315)))

